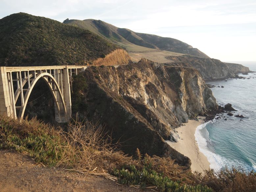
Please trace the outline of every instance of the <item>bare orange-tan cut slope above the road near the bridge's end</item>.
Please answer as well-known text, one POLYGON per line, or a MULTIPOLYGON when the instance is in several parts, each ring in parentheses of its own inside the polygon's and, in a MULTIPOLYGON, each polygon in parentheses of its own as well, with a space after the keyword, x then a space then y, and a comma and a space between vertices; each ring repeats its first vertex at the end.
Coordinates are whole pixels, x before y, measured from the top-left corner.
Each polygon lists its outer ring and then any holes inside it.
POLYGON ((92 65, 123 65, 131 63, 131 58, 123 49, 116 49, 104 58, 98 58, 92 62, 92 65))

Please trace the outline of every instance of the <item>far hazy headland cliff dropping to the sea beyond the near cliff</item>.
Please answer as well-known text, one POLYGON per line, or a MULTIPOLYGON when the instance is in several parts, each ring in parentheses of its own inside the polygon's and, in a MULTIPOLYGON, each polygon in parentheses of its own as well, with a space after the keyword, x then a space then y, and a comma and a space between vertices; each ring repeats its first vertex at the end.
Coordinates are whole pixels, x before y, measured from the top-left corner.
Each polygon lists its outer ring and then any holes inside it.
MULTIPOLYGON (((170 56, 168 65, 186 66, 197 69, 204 79, 234 78, 238 67, 221 62, 217 59, 199 58, 194 56, 170 56), (235 71, 234 71, 235 70, 235 71)), ((239 65, 239 64, 237 64, 239 65)), ((247 70, 248 67, 239 66, 240 70, 247 70)))

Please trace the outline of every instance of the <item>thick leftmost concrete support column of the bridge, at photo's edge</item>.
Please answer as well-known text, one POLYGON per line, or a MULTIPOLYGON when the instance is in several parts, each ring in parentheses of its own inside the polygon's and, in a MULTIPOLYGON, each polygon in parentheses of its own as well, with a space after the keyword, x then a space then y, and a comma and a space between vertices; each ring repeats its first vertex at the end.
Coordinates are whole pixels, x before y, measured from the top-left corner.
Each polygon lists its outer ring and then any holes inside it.
POLYGON ((13 102, 11 95, 10 79, 8 81, 5 67, 0 67, 0 113, 7 113, 8 116, 16 116, 13 113, 13 102))

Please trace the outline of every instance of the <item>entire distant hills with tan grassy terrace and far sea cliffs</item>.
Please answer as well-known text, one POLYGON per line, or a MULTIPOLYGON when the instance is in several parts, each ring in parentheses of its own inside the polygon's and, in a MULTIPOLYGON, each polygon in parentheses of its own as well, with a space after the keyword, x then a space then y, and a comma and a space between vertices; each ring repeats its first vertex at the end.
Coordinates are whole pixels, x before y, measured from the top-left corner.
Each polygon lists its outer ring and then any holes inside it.
POLYGON ((204 79, 234 78, 237 73, 249 72, 248 67, 211 59, 191 45, 169 37, 136 33, 115 27, 101 20, 65 20, 65 24, 87 29, 125 48, 133 62, 141 58, 169 66, 196 68, 204 79))

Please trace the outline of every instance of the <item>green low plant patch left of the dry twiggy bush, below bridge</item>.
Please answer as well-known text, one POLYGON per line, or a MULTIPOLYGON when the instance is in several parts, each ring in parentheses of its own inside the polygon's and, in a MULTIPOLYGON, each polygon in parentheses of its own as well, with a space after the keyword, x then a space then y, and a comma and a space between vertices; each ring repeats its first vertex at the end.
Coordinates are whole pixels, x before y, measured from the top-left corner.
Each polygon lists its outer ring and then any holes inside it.
POLYGON ((60 133, 36 119, 16 127, 15 120, 0 119, 0 149, 15 149, 27 153, 36 162, 55 166, 62 159, 66 142, 60 133))

